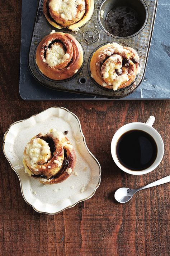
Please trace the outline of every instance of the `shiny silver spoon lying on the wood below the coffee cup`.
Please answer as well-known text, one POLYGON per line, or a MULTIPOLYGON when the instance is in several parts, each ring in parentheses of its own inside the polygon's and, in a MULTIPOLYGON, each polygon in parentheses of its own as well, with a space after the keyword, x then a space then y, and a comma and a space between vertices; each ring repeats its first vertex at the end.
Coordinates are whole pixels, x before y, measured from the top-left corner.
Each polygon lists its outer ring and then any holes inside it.
POLYGON ((114 194, 114 198, 119 202, 119 203, 126 203, 128 202, 133 195, 137 192, 140 191, 142 189, 145 188, 151 188, 157 185, 161 185, 164 183, 170 182, 170 175, 166 176, 165 178, 162 178, 160 180, 154 181, 142 188, 138 188, 138 189, 130 189, 130 188, 119 188, 116 190, 115 194, 114 194))

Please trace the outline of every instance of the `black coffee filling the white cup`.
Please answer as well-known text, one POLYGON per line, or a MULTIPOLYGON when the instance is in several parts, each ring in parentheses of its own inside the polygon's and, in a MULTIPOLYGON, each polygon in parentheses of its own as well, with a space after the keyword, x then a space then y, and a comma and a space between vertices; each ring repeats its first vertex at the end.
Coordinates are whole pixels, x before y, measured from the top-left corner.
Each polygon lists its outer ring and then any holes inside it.
POLYGON ((145 131, 131 130, 124 133, 116 145, 119 162, 134 171, 145 170, 157 157, 157 145, 145 131))

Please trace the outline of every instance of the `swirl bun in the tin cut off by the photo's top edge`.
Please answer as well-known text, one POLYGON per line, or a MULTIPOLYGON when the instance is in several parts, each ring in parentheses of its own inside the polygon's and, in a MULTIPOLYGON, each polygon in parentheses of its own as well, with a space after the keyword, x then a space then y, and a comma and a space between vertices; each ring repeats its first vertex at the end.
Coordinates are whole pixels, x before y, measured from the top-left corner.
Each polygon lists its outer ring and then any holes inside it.
POLYGON ((67 27, 79 31, 89 21, 94 10, 94 0, 44 0, 43 11, 54 27, 67 27))

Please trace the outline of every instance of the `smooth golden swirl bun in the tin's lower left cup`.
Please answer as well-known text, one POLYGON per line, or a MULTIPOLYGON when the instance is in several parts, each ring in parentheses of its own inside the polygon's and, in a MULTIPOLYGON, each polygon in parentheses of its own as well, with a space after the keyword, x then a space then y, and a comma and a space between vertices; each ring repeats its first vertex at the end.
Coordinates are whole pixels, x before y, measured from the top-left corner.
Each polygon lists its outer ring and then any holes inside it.
POLYGON ((72 77, 83 62, 83 51, 74 36, 53 30, 38 44, 36 63, 39 70, 54 80, 72 77))

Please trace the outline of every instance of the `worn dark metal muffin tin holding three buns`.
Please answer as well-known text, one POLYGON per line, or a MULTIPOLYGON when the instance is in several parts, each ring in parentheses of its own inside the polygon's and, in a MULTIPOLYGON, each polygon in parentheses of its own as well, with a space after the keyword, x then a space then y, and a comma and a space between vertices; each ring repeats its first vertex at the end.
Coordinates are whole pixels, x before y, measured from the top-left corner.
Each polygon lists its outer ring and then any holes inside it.
POLYGON ((91 19, 75 34, 68 29, 58 30, 51 26, 43 14, 43 0, 40 0, 30 44, 29 68, 38 82, 55 90, 103 96, 112 99, 122 98, 132 93, 140 85, 145 75, 155 22, 157 0, 95 0, 94 4, 94 13, 91 19), (110 17, 112 18, 112 10, 117 6, 128 6, 138 14, 139 24, 137 31, 133 31, 133 35, 131 33, 125 37, 112 35, 112 19, 110 17), (101 10, 104 11, 103 18, 101 18, 101 10), (107 17, 108 14, 109 16, 107 17), (84 51, 84 62, 81 69, 73 77, 66 80, 56 81, 44 76, 39 71, 35 62, 37 44, 52 30, 72 34, 80 42, 84 51), (141 72, 138 74, 136 81, 125 89, 117 91, 106 89, 98 85, 90 76, 91 56, 96 49, 109 42, 118 42, 119 44, 130 46, 139 55, 141 72))

